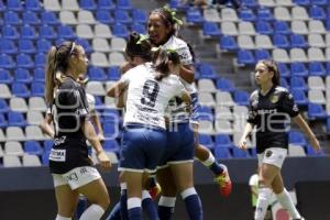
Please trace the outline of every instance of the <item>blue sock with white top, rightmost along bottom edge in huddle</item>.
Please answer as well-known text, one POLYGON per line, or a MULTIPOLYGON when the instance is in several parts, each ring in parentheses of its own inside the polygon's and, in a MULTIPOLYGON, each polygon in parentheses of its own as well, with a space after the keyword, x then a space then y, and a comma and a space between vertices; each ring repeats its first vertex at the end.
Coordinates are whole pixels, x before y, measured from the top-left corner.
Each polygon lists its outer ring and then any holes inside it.
POLYGON ((182 191, 182 198, 185 201, 189 218, 191 220, 202 220, 201 202, 195 187, 190 187, 182 191))

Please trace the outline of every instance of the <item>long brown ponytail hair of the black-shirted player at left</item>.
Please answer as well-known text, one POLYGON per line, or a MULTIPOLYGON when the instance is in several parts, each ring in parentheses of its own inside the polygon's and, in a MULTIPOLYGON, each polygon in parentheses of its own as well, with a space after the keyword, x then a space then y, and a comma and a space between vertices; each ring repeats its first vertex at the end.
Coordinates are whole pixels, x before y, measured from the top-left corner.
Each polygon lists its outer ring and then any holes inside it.
POLYGON ((59 46, 52 46, 47 55, 46 64, 46 102, 53 102, 55 86, 68 68, 70 55, 78 54, 75 42, 64 42, 59 46))

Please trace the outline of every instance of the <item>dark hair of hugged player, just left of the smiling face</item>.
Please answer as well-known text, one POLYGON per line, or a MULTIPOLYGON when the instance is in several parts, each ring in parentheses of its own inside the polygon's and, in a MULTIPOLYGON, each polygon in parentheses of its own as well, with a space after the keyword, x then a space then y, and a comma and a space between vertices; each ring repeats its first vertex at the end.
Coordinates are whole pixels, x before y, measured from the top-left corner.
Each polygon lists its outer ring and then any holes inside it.
POLYGON ((128 56, 139 56, 150 62, 152 59, 152 43, 147 37, 144 37, 144 35, 141 35, 136 32, 130 33, 125 53, 128 56))

